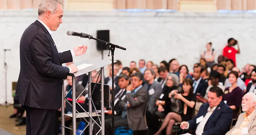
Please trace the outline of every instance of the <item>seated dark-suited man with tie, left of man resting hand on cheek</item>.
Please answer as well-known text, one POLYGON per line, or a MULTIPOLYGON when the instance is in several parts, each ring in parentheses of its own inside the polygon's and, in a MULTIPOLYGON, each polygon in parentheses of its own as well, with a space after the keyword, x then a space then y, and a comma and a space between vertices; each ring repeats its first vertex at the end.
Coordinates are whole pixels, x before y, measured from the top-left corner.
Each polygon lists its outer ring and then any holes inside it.
MULTIPOLYGON (((119 88, 115 89, 115 100, 114 100, 114 113, 115 117, 120 116, 122 114, 122 108, 119 106, 119 103, 125 98, 126 93, 126 87, 129 85, 129 76, 125 74, 120 74, 118 76, 118 86, 119 88)), ((112 103, 110 104, 112 105, 112 103)), ((111 107, 112 108, 112 107, 111 107)), ((105 110, 109 110, 107 113, 105 113, 105 121, 108 119, 111 119, 112 121, 112 110, 105 108, 105 110)), ((108 120, 109 121, 109 120, 108 120)), ((99 119, 96 120, 96 122, 100 125, 99 119)), ((99 131, 99 127, 97 125, 93 126, 93 134, 97 134, 99 131)))

